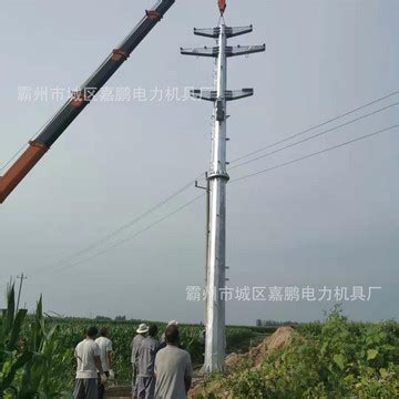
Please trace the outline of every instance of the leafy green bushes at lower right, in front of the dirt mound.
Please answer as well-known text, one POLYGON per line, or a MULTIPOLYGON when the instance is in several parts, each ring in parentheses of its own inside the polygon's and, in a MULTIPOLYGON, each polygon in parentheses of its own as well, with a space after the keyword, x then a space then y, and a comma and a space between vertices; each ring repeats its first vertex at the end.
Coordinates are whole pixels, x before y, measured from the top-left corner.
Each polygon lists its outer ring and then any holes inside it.
POLYGON ((234 398, 399 397, 397 323, 350 323, 337 308, 299 331, 260 368, 228 376, 224 389, 234 398))

